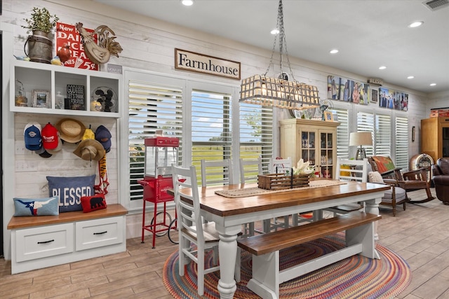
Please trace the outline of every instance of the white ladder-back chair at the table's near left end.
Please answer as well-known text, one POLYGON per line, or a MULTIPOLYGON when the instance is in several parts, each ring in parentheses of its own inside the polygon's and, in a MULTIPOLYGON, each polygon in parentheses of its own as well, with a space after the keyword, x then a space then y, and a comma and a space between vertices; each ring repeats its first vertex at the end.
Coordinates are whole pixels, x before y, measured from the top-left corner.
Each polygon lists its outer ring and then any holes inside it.
MULTIPOLYGON (((215 230, 215 222, 201 221, 198 183, 196 169, 192 165, 182 168, 172 165, 173 192, 177 210, 177 225, 179 228, 179 274, 184 276, 187 259, 194 261, 198 268, 197 292, 204 294, 204 275, 220 270, 217 263, 218 242, 220 237, 215 230), (181 200, 182 197, 185 200, 181 200), (195 245, 195 246, 193 246, 195 245), (213 250, 213 266, 206 268, 204 257, 206 251, 213 250)), ((240 249, 237 249, 235 279, 240 281, 240 249)), ((222 260, 226 263, 226 260, 222 260)))

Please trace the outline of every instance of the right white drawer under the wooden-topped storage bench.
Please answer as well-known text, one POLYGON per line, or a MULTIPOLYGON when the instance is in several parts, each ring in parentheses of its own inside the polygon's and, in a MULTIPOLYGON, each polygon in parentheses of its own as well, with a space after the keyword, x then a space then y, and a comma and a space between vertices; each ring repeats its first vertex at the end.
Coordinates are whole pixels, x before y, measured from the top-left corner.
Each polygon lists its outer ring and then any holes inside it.
POLYGON ((123 242, 123 217, 76 222, 76 251, 123 242))

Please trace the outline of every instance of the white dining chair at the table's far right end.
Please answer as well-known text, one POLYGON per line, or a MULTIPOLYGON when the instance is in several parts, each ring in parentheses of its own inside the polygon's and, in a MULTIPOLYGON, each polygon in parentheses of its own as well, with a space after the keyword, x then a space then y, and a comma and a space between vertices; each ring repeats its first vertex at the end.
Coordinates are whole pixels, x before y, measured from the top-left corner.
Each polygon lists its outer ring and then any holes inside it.
MULTIPOLYGON (((337 165, 335 165, 335 179, 340 181, 359 181, 366 183, 368 180, 368 159, 350 160, 337 158, 337 165)), ((351 211, 363 210, 362 204, 340 204, 336 207, 325 209, 335 214, 347 214, 351 211)))

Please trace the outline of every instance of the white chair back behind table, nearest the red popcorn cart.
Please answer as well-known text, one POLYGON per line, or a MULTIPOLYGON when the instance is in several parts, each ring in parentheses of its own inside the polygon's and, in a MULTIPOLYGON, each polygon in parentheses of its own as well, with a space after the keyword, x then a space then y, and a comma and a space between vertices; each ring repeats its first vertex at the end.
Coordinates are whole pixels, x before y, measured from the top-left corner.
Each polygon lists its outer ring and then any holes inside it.
POLYGON ((201 186, 232 185, 232 161, 201 160, 201 186))

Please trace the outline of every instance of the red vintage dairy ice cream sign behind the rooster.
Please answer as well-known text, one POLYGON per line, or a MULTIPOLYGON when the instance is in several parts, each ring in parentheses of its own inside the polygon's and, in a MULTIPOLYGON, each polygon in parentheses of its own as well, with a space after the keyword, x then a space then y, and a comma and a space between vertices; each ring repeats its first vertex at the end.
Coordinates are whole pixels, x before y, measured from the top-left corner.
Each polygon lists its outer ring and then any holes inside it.
MULTIPOLYGON (((93 29, 87 29, 87 32, 93 33, 93 29)), ((95 42, 97 41, 96 34, 93 36, 95 42)), ((83 43, 81 42, 81 36, 76 31, 74 25, 56 23, 56 52, 67 44, 70 50, 70 57, 66 62, 62 62, 65 67, 75 67, 77 69, 91 69, 98 71, 98 64, 91 62, 84 53, 83 43)))

